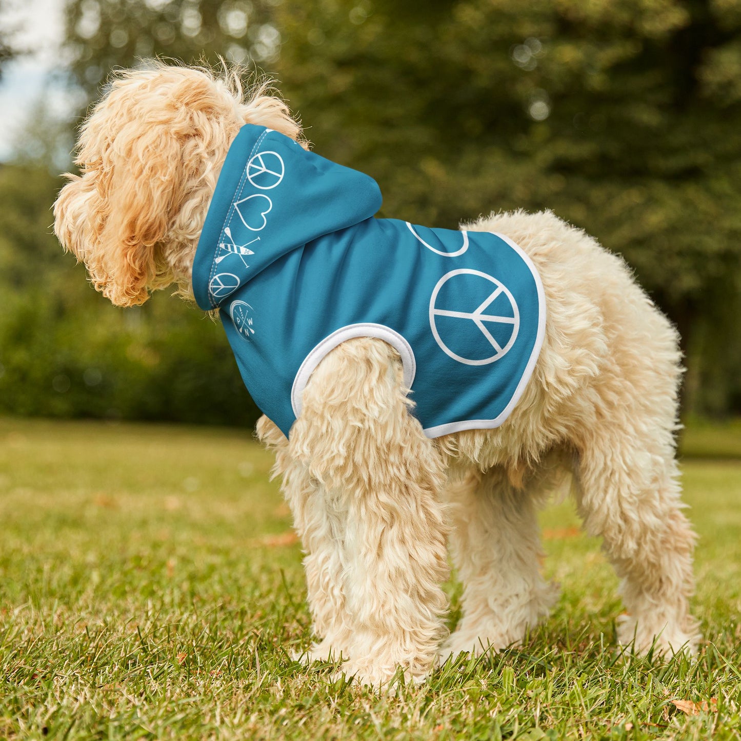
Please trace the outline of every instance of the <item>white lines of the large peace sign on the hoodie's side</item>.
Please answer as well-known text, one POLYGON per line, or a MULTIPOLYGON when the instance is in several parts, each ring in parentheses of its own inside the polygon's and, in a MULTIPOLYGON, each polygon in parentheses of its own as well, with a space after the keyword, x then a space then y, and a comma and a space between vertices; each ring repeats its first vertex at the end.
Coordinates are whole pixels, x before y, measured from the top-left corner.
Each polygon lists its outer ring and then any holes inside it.
POLYGON ((487 275, 487 273, 482 273, 480 270, 468 270, 465 268, 462 268, 460 270, 451 270, 450 273, 446 273, 444 276, 442 276, 441 279, 439 279, 432 292, 432 296, 430 297, 430 328, 432 330, 435 341, 440 346, 440 349, 446 355, 453 358, 453 360, 456 360, 459 363, 464 363, 465 365, 488 365, 489 363, 493 363, 494 361, 499 360, 500 358, 505 356, 512 345, 514 345, 514 341, 515 339, 517 339, 517 333, 519 331, 519 309, 517 308, 517 303, 514 300, 514 296, 512 296, 508 288, 503 283, 499 282, 496 278, 492 278, 490 275, 487 275), (491 282, 495 286, 495 288, 487 296, 487 298, 484 299, 484 301, 482 301, 481 304, 479 304, 479 306, 477 306, 473 311, 453 311, 444 308, 438 308, 436 305, 436 300, 440 289, 451 278, 459 275, 479 276, 480 278, 484 278, 488 282, 491 282), (491 304, 494 303, 494 301, 499 298, 502 293, 508 299, 510 308, 512 310, 512 316, 501 316, 485 313, 489 306, 491 306, 491 304), (435 322, 436 316, 450 316, 453 317, 453 319, 459 319, 461 322, 473 322, 473 325, 478 328, 479 332, 484 336, 485 341, 488 342, 488 345, 491 345, 491 348, 494 349, 494 355, 488 358, 474 360, 471 358, 464 358, 456 355, 456 353, 453 353, 453 350, 448 348, 448 345, 445 345, 445 342, 443 342, 439 334, 435 322), (492 336, 491 332, 486 327, 487 324, 512 326, 512 334, 504 347, 502 347, 499 342, 496 342, 496 339, 494 339, 494 336, 492 336))

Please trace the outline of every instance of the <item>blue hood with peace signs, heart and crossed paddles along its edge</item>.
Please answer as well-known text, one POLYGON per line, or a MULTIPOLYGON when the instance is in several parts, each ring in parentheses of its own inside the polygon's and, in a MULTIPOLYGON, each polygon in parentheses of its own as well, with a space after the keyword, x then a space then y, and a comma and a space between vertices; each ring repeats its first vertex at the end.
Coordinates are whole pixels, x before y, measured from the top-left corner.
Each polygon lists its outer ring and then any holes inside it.
POLYGON ((219 308, 276 260, 370 218, 381 202, 368 175, 246 124, 229 148, 196 250, 197 304, 219 308))

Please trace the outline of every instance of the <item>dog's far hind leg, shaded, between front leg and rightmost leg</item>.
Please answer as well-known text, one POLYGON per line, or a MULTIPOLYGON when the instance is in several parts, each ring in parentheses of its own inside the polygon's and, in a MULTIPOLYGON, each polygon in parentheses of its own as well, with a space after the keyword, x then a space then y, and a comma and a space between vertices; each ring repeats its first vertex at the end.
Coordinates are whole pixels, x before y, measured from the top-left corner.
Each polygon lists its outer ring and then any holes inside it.
POLYGON ((536 510, 544 494, 515 487, 504 468, 471 472, 448 488, 451 551, 463 582, 462 619, 442 658, 516 645, 548 615, 558 590, 540 574, 536 510))

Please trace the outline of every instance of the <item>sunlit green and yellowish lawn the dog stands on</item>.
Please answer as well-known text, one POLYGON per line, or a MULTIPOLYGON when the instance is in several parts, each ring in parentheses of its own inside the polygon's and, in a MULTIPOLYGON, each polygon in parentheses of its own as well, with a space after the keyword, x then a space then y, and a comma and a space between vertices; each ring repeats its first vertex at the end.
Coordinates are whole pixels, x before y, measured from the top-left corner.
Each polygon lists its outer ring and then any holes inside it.
POLYGON ((290 658, 309 617, 270 465, 246 432, 0 419, 0 737, 741 738, 741 462, 682 465, 699 659, 617 650, 616 579, 559 505, 553 616, 396 697, 290 658))

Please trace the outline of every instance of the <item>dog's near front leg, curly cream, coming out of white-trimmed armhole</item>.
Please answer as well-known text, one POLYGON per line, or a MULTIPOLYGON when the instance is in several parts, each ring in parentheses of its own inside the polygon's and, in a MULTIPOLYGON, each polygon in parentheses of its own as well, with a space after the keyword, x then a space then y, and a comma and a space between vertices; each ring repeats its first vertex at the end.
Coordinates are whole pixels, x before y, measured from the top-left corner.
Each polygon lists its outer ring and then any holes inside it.
POLYGON ((444 465, 408 411, 395 351, 376 339, 333 350, 304 392, 289 448, 313 482, 310 518, 328 534, 307 566, 342 613, 343 671, 375 687, 399 667, 423 679, 446 633, 444 465))

